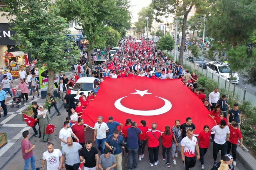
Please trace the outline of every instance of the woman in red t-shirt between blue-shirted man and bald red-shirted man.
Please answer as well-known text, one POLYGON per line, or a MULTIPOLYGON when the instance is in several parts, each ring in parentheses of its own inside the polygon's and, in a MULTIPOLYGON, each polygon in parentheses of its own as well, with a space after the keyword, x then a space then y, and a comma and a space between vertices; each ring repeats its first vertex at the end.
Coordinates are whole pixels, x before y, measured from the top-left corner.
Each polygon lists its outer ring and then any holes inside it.
POLYGON ((139 161, 144 158, 144 151, 145 151, 145 146, 147 143, 147 138, 146 138, 146 132, 148 131, 148 127, 146 126, 147 122, 145 120, 140 121, 140 126, 138 126, 139 130, 142 131, 142 134, 139 134, 139 140, 142 141, 142 146, 139 148, 139 161))

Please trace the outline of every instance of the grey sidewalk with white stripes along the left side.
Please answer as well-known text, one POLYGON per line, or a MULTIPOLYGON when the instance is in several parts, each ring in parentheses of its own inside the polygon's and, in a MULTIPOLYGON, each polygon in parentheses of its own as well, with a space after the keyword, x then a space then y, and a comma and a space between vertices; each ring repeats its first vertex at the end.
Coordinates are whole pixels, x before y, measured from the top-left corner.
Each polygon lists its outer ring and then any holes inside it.
MULTIPOLYGON (((72 72, 66 72, 65 73, 67 78, 69 79, 71 75, 73 75, 72 72)), ((19 84, 19 79, 13 79, 13 88, 16 88, 19 84)), ((40 93, 40 90, 39 90, 40 93)), ((15 156, 15 154, 20 150, 21 141, 23 139, 22 132, 25 130, 29 131, 30 138, 34 134, 34 131, 31 127, 27 126, 25 121, 22 121, 22 113, 24 109, 26 109, 29 105, 31 105, 32 102, 37 102, 37 104, 45 104, 45 98, 42 99, 41 96, 37 97, 37 93, 35 93, 35 99, 32 100, 33 96, 28 96, 28 103, 25 103, 24 105, 19 104, 19 108, 16 108, 16 105, 14 105, 13 108, 10 107, 12 98, 10 97, 10 94, 7 94, 7 110, 8 114, 6 117, 3 117, 3 113, 1 114, 0 118, 0 132, 7 132, 7 139, 8 144, 3 145, 0 148, 0 169, 8 163, 8 161, 15 156)), ((63 106, 63 102, 58 102, 57 107, 61 108, 63 106)), ((48 108, 46 108, 48 109, 48 108)), ((52 108, 52 114, 51 117, 54 116, 56 110, 52 108)), ((38 129, 38 126, 36 127, 38 129)))

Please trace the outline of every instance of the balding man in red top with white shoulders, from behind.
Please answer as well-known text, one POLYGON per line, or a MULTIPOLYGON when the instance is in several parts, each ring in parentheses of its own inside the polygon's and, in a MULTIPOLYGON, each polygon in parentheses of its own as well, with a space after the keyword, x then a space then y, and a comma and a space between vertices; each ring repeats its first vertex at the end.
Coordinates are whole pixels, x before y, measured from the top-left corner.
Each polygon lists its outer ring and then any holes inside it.
POLYGON ((156 130, 156 123, 151 125, 151 129, 147 131, 146 138, 148 138, 148 155, 150 160, 150 166, 157 166, 158 164, 158 151, 159 151, 159 138, 161 137, 161 132, 156 130))

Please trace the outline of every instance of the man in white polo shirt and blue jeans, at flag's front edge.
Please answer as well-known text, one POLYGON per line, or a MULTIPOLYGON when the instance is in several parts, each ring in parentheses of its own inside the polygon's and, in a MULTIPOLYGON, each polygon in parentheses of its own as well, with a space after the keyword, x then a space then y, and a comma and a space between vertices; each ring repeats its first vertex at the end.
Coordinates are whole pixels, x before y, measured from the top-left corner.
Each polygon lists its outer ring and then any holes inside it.
POLYGON ((97 148, 100 150, 101 155, 104 153, 105 149, 105 141, 107 138, 106 132, 109 132, 108 125, 103 122, 102 116, 98 116, 98 122, 94 125, 93 140, 94 142, 96 141, 97 148))

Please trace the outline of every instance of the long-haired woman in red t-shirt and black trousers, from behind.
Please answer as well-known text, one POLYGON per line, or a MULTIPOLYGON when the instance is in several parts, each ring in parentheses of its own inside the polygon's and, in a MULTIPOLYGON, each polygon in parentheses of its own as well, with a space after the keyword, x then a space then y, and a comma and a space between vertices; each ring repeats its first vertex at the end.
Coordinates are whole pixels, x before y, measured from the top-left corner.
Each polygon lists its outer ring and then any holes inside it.
POLYGON ((170 168, 170 150, 172 148, 172 137, 173 133, 170 130, 170 126, 165 126, 165 131, 162 133, 161 138, 163 139, 163 160, 165 160, 165 152, 167 155, 167 162, 165 163, 170 168))

